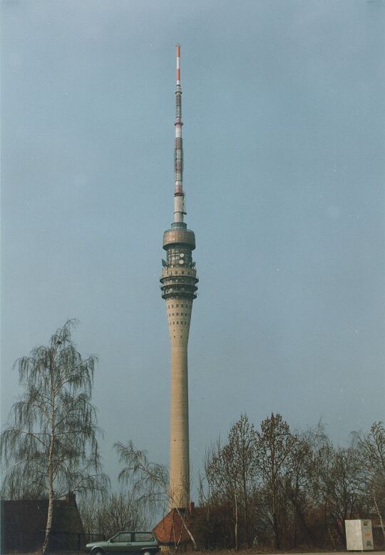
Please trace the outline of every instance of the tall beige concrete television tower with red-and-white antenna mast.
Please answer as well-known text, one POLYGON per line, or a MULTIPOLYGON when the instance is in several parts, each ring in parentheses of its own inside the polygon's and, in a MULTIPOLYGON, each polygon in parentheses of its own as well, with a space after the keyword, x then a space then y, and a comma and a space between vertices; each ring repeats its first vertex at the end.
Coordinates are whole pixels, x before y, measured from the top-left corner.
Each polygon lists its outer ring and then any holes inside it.
POLYGON ((174 221, 163 234, 163 260, 160 282, 165 299, 171 341, 170 413, 170 507, 187 507, 190 501, 190 454, 188 430, 188 335, 191 310, 196 298, 197 273, 192 252, 194 232, 184 223, 182 89, 180 88, 180 46, 177 46, 175 90, 175 190, 174 221))

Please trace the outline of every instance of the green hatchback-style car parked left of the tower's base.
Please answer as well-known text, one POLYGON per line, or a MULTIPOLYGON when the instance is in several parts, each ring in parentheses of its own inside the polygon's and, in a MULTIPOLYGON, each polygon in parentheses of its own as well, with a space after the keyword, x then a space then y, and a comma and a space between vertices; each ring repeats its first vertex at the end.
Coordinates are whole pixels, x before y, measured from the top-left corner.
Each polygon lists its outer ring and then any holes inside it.
POLYGON ((159 551, 158 538, 153 532, 118 532, 107 541, 87 544, 91 555, 120 553, 124 555, 155 555, 159 551))

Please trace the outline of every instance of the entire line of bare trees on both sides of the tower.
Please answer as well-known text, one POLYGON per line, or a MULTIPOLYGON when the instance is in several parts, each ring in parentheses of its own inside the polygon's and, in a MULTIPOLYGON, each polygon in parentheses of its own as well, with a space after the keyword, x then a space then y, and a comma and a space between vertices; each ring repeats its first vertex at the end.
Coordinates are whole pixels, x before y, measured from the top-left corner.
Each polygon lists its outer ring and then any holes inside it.
MULTIPOLYGON (((123 468, 120 492, 111 491, 91 403, 96 357, 78 352, 74 323, 68 320, 48 345, 15 362, 22 394, 0 434, 2 499, 48 498, 42 552, 54 501, 68 492, 76 492, 90 536, 148 528, 170 499, 168 469, 132 442, 114 444, 123 468)), ((385 539, 381 422, 351 434, 349 447, 335 447, 321 426, 292 432, 280 414, 271 414, 256 427, 243 414, 225 442, 207 449, 202 467, 199 507, 184 523, 202 548, 336 548, 344 545, 344 520, 351 518, 374 519, 385 539)))

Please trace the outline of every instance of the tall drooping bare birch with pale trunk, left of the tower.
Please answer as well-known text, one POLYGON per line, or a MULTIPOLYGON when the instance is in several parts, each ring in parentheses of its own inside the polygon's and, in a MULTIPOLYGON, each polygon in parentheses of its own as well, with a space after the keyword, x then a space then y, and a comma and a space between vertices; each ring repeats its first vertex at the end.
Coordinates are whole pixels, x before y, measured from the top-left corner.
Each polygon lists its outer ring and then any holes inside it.
POLYGON ((108 483, 101 473, 97 442, 101 430, 91 404, 96 357, 83 359, 76 350, 71 337, 74 323, 68 320, 48 346, 16 360, 24 393, 1 433, 5 482, 19 481, 26 492, 48 494, 43 553, 51 534, 53 501, 69 491, 103 491, 108 483))

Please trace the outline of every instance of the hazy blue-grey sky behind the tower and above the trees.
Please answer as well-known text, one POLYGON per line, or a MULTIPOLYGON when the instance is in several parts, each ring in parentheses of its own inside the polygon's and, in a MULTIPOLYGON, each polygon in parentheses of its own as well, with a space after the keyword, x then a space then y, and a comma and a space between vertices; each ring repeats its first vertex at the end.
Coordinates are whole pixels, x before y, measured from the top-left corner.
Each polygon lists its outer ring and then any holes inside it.
POLYGON ((384 419, 384 2, 3 1, 2 414, 71 317, 111 446, 168 461, 159 277, 182 45, 190 449, 247 412, 384 419))

